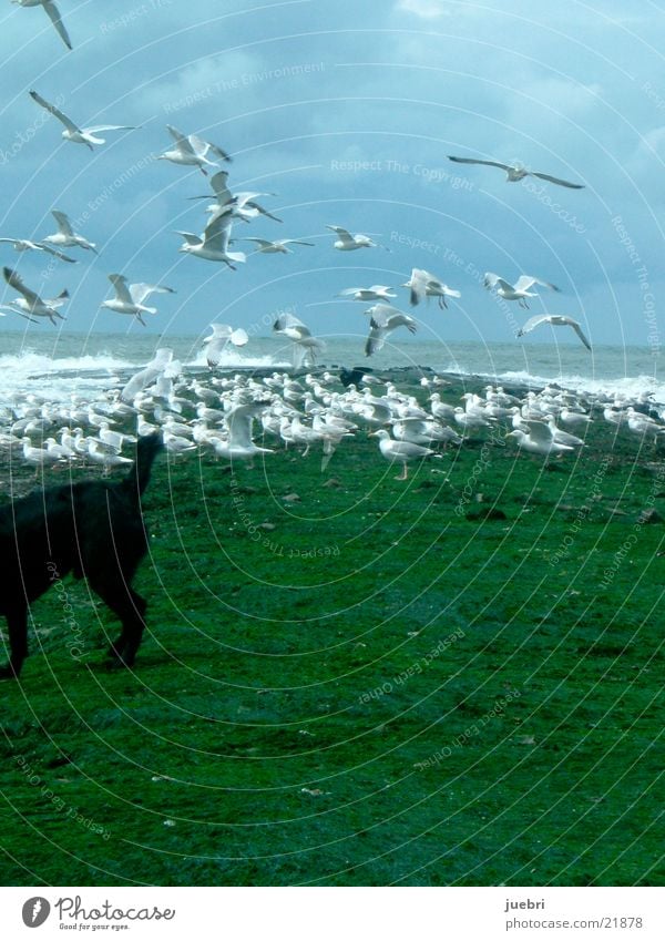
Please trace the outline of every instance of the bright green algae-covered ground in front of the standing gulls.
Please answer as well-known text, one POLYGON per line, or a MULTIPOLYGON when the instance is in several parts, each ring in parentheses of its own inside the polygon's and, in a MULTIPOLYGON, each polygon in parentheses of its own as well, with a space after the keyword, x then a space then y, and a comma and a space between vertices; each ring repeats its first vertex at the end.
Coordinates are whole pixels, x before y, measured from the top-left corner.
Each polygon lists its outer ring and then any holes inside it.
POLYGON ((504 432, 160 458, 135 672, 66 580, 0 685, 2 882, 663 884, 662 454, 504 432))

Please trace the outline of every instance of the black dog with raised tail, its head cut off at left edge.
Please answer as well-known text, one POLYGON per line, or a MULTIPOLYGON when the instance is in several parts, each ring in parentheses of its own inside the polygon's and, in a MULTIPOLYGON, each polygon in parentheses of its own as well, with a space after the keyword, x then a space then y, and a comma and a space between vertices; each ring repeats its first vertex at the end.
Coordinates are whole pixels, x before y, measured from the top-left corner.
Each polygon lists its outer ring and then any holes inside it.
POLYGON ((162 448, 142 438, 124 480, 83 480, 35 491, 0 508, 0 614, 7 617, 11 655, 0 678, 18 677, 28 656, 28 608, 60 577, 73 572, 122 622, 111 655, 131 666, 143 634, 146 602, 132 579, 147 551, 141 494, 162 448))

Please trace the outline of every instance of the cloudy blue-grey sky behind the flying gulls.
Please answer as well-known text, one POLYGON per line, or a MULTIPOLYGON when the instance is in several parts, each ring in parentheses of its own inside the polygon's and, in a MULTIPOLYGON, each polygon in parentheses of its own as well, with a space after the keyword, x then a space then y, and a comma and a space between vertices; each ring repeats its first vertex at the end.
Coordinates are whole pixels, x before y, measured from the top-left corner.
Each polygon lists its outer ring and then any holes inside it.
MULTIPOLYGON (((58 0, 68 51, 42 9, 0 0, 0 237, 39 239, 65 212, 100 248, 79 264, 18 255, 44 297, 68 288, 62 327, 200 334, 212 321, 268 335, 284 310, 315 335, 362 334, 347 287, 385 284, 419 336, 514 340, 534 314, 577 319, 594 345, 665 337, 662 301, 665 6, 643 0, 58 0), (111 14, 109 10, 111 8, 111 14), (223 10, 221 12, 221 10, 223 10), (29 96, 79 125, 127 124, 93 152, 29 96), (291 255, 248 255, 237 270, 178 253, 201 233, 209 183, 156 157, 166 124, 229 152, 232 191, 259 191, 283 223, 246 236, 295 238, 291 255), (584 185, 526 177, 448 155, 522 165, 584 185), (327 225, 371 235, 341 253, 327 225), (424 268, 461 291, 448 310, 409 307, 424 268), (485 272, 534 275, 530 310, 499 304, 485 272), (100 309, 108 275, 172 287, 142 327, 100 309)), ((103 135, 102 135, 103 136, 103 135)), ((74 250, 74 249, 72 249, 74 250)), ((4 284, 0 303, 16 293, 4 284)), ((152 303, 152 301, 151 301, 152 303)), ((9 313, 2 329, 55 330, 9 313)), ((533 341, 554 340, 550 327, 533 341)), ((393 335, 397 339, 397 336, 393 335)), ((406 331, 405 331, 405 336, 406 331)), ((561 341, 557 336, 556 340, 561 341)), ((576 338, 571 334, 571 341, 576 338)), ((530 338, 531 340, 531 338, 530 338)))

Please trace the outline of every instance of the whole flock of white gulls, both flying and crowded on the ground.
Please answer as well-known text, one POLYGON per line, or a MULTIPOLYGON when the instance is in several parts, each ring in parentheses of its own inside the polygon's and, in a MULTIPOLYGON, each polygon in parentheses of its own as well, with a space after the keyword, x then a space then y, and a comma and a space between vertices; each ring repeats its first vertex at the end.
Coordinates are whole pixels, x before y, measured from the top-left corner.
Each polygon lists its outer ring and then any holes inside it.
MULTIPOLYGON (((23 8, 41 7, 51 20, 68 49, 72 43, 62 22, 60 11, 52 0, 12 0, 23 8)), ((90 150, 102 146, 108 132, 137 130, 129 124, 83 126, 68 116, 57 104, 35 90, 30 98, 41 109, 63 125, 62 137, 90 150)), ((200 233, 178 232, 184 239, 180 250, 201 260, 218 263, 224 269, 235 270, 248 256, 260 254, 288 255, 291 246, 311 247, 304 238, 272 239, 263 236, 238 238, 237 225, 272 219, 282 223, 263 205, 274 193, 233 192, 228 186, 228 171, 224 164, 232 156, 215 143, 194 133, 184 133, 166 125, 171 144, 157 158, 187 170, 198 170, 206 177, 207 194, 190 197, 206 200, 207 218, 200 233), (262 202, 259 202, 262 201, 262 202), (238 242, 252 249, 243 252, 238 242), (233 246, 233 250, 232 250, 233 246)), ((450 155, 458 164, 482 165, 503 170, 508 182, 519 182, 534 176, 569 190, 581 190, 572 183, 551 174, 530 171, 524 166, 495 160, 450 155)), ((76 249, 100 253, 96 244, 75 232, 70 217, 61 209, 51 211, 57 232, 39 241, 20 236, 0 237, 18 253, 44 252, 54 259, 75 264, 76 249), (64 250, 66 249, 66 252, 64 250)), ((387 246, 364 233, 351 233, 339 225, 327 225, 334 233, 331 248, 338 252, 385 249, 387 246)), ((31 321, 48 319, 58 324, 64 319, 60 308, 69 299, 64 288, 54 298, 42 298, 29 287, 12 267, 3 266, 4 280, 19 296, 2 305, 2 310, 18 314, 31 321)), ((153 294, 173 294, 174 288, 161 284, 129 283, 122 273, 108 275, 113 296, 101 301, 101 307, 115 314, 134 317, 145 325, 157 308, 145 301, 153 294)), ((534 287, 557 293, 560 288, 540 277, 521 274, 514 283, 488 272, 484 287, 504 301, 515 301, 528 309, 529 300, 539 297, 534 287)), ((447 310, 461 291, 449 287, 438 275, 413 267, 407 280, 398 286, 374 284, 368 287, 345 287, 337 297, 369 305, 368 336, 365 354, 371 357, 385 345, 387 338, 400 328, 413 334, 416 318, 392 304, 398 299, 398 288, 408 291, 411 308, 436 298, 441 310, 447 310)), ((559 314, 539 314, 523 324, 518 336, 523 336, 543 325, 571 328, 584 346, 591 344, 577 320, 559 314)), ((408 479, 411 462, 441 459, 451 448, 459 448, 469 438, 502 431, 502 437, 514 439, 520 449, 551 458, 570 454, 584 447, 582 433, 592 421, 604 420, 616 429, 625 427, 642 439, 657 441, 665 434, 661 420, 654 415, 648 399, 621 400, 606 396, 591 397, 556 387, 542 392, 509 395, 501 387, 487 387, 483 395, 466 393, 461 403, 442 401, 441 392, 449 385, 441 376, 431 374, 421 380, 423 395, 400 392, 387 380, 380 380, 371 370, 356 370, 355 381, 317 368, 325 341, 313 335, 309 327, 291 313, 279 314, 273 325, 275 334, 293 344, 294 367, 309 369, 298 378, 288 372, 274 372, 262 379, 237 374, 233 377, 217 375, 222 354, 227 345, 243 347, 248 335, 242 328, 214 323, 212 334, 204 341, 207 376, 188 376, 182 364, 173 359, 168 349, 160 349, 153 360, 122 387, 103 396, 86 399, 79 395, 71 402, 53 403, 37 395, 17 397, 11 405, 0 407, 0 446, 22 453, 23 460, 34 466, 35 473, 50 466, 69 466, 88 462, 99 464, 104 472, 127 463, 123 448, 133 444, 144 434, 161 430, 168 453, 178 459, 187 453, 208 450, 217 458, 252 462, 260 457, 268 459, 275 451, 291 449, 307 457, 320 449, 321 469, 331 460, 336 449, 358 434, 368 433, 378 441, 383 458, 401 466, 399 480, 408 479), (424 401, 421 399, 424 398, 424 401), (262 443, 254 438, 260 433, 262 443)), ((436 461, 434 461, 436 463, 436 461)))

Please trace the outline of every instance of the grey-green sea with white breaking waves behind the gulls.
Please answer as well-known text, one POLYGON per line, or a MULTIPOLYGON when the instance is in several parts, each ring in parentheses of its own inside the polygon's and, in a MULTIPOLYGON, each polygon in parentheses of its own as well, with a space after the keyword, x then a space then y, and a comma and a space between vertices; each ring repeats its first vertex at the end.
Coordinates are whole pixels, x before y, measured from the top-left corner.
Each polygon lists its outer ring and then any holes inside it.
MULTIPOLYGON (((158 336, 139 333, 0 334, 0 406, 29 393, 49 401, 72 396, 93 399, 123 385, 160 348, 173 350, 183 372, 207 372, 203 336, 158 336)), ((649 347, 581 344, 453 342, 401 339, 387 342, 371 358, 360 337, 330 337, 317 358, 317 368, 370 367, 377 375, 390 369, 420 368, 453 376, 480 377, 503 386, 533 389, 548 383, 585 393, 637 398, 651 393, 665 403, 665 375, 658 351, 649 347)), ((294 368, 293 346, 283 337, 252 337, 241 348, 228 346, 216 372, 287 371, 294 368)))

